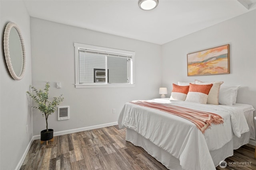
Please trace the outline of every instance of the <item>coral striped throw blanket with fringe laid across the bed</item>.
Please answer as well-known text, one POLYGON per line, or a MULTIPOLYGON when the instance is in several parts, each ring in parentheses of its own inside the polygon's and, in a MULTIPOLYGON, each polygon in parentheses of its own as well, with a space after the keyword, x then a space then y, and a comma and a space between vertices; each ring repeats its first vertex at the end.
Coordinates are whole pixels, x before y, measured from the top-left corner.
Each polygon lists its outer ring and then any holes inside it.
POLYGON ((224 122, 223 118, 220 115, 205 111, 198 111, 194 109, 188 109, 185 107, 172 106, 170 104, 161 104, 145 101, 136 101, 130 103, 139 106, 150 107, 152 109, 158 109, 170 113, 172 115, 177 115, 185 119, 188 119, 189 121, 193 122, 196 125, 196 127, 198 127, 200 131, 202 131, 202 133, 204 133, 206 129, 210 128, 212 123, 218 125, 224 122))

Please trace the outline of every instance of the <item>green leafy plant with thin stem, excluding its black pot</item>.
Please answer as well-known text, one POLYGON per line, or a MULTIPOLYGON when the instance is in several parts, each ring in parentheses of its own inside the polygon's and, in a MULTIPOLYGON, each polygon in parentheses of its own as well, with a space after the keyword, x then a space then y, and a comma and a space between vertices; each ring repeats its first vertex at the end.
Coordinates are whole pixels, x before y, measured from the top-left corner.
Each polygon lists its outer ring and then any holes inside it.
POLYGON ((36 102, 36 106, 32 106, 37 108, 42 112, 42 116, 45 117, 46 121, 46 131, 48 131, 48 116, 54 113, 57 109, 57 106, 64 100, 62 94, 59 97, 54 97, 52 102, 48 101, 49 96, 49 82, 46 83, 44 90, 37 90, 34 86, 30 85, 30 88, 33 92, 27 91, 27 94, 36 102))

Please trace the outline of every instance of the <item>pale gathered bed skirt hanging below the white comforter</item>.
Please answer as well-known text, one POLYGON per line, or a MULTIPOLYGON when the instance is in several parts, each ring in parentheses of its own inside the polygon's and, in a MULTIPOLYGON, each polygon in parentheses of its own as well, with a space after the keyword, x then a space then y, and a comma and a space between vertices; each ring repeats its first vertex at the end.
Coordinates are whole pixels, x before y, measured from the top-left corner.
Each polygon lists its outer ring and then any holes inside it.
MULTIPOLYGON (((242 134, 240 138, 234 136, 233 140, 228 142, 222 148, 210 151, 214 165, 217 167, 221 160, 233 155, 233 149, 238 149, 242 145, 249 143, 250 132, 242 134)), ((131 142, 135 146, 142 147, 148 154, 161 162, 170 170, 183 170, 180 161, 165 150, 156 146, 150 140, 144 138, 134 130, 126 128, 126 141, 131 142)))

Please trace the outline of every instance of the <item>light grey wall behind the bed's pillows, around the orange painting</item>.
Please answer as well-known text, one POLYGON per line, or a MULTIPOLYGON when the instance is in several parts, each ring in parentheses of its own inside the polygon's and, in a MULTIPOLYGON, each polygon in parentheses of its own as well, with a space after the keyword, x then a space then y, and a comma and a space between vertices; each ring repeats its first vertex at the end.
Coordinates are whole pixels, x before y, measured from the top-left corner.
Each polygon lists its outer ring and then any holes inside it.
POLYGON ((178 81, 224 81, 241 85, 237 102, 256 108, 256 10, 162 45, 162 62, 168 96, 178 81), (187 76, 188 53, 224 44, 230 44, 230 74, 187 76))

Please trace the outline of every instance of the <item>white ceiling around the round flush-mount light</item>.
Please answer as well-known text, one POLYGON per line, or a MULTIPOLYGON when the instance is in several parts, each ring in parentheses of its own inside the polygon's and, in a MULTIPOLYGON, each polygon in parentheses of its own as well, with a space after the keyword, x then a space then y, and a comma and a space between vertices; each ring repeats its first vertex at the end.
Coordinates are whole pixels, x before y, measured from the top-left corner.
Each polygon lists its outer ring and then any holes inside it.
POLYGON ((256 0, 23 0, 30 16, 162 45, 256 9, 256 0))

